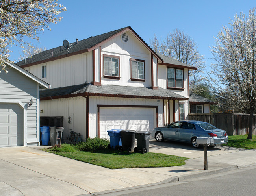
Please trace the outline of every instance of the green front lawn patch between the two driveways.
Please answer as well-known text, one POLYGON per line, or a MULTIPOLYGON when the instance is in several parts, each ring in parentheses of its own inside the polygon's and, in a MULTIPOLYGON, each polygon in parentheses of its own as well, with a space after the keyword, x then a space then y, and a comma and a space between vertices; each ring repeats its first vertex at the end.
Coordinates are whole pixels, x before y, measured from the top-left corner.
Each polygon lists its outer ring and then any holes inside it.
POLYGON ((75 150, 74 152, 63 152, 60 150, 55 151, 53 149, 44 150, 46 152, 51 152, 70 159, 76 159, 78 161, 91 163, 109 169, 180 166, 185 165, 185 160, 188 159, 185 157, 160 153, 129 153, 113 149, 95 150, 93 152, 79 150, 75 150))

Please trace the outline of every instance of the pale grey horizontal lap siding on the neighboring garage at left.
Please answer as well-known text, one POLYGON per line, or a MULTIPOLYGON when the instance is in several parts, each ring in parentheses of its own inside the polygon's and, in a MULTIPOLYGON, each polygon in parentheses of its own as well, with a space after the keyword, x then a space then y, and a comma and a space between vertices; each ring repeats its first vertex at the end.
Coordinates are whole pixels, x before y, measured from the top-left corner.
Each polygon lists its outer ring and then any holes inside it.
MULTIPOLYGON (((28 139, 37 138, 37 83, 27 76, 21 74, 14 68, 7 67, 7 74, 0 73, 0 100, 15 101, 28 106, 33 100, 32 106, 26 109, 26 124, 28 139)), ((1 101, 0 101, 1 102, 1 101)), ((35 140, 36 141, 36 140, 35 140)))

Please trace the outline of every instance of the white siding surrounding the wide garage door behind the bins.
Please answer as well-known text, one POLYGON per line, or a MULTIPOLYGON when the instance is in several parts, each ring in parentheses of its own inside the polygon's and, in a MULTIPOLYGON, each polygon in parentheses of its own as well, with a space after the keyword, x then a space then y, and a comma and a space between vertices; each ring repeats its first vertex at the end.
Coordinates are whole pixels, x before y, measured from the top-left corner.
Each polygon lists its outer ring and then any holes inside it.
MULTIPOLYGON (((98 130, 98 107, 97 105, 145 105, 158 106, 158 126, 163 126, 163 100, 135 99, 135 98, 113 98, 113 97, 89 97, 90 132, 91 138, 97 136, 98 130)), ((154 127, 156 127, 156 116, 154 116, 154 127)))

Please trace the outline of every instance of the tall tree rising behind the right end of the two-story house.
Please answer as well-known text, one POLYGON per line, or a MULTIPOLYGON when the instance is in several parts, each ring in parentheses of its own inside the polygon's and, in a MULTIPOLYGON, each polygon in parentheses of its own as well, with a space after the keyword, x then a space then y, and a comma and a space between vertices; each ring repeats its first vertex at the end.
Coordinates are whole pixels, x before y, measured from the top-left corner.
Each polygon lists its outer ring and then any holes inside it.
POLYGON ((162 55, 197 67, 197 70, 189 72, 189 87, 191 91, 193 91, 196 84, 202 83, 205 80, 202 76, 205 68, 204 56, 199 54, 197 43, 195 43, 193 38, 183 31, 173 30, 165 39, 160 39, 160 41, 154 35, 154 38, 150 40, 150 45, 154 51, 162 55))

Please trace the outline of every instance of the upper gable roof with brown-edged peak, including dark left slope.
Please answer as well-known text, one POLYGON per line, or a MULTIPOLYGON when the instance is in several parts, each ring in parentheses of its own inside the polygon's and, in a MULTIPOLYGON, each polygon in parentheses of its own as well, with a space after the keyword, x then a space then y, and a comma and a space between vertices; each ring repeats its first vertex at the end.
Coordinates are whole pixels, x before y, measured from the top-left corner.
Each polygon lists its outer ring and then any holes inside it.
POLYGON ((156 52, 154 52, 154 50, 152 50, 152 48, 150 48, 150 46, 148 46, 148 44, 145 43, 145 41, 143 41, 143 39, 141 39, 141 37, 139 37, 139 35, 130 26, 128 26, 118 30, 110 31, 108 33, 103 33, 101 35, 92 36, 87 39, 80 40, 78 44, 76 44, 75 42, 70 43, 72 44, 72 47, 68 49, 69 53, 64 46, 58 46, 56 48, 52 48, 50 50, 45 50, 43 52, 35 54, 31 58, 26 58, 22 61, 17 62, 16 64, 21 67, 28 67, 40 63, 46 63, 48 61, 54 61, 56 59, 69 57, 72 55, 90 52, 109 41, 109 39, 113 39, 114 37, 119 36, 129 30, 134 34, 135 37, 137 37, 137 39, 139 39, 139 41, 141 41, 141 43, 148 50, 150 50, 150 52, 152 52, 158 58, 159 61, 163 62, 158 54, 156 54, 156 52))

